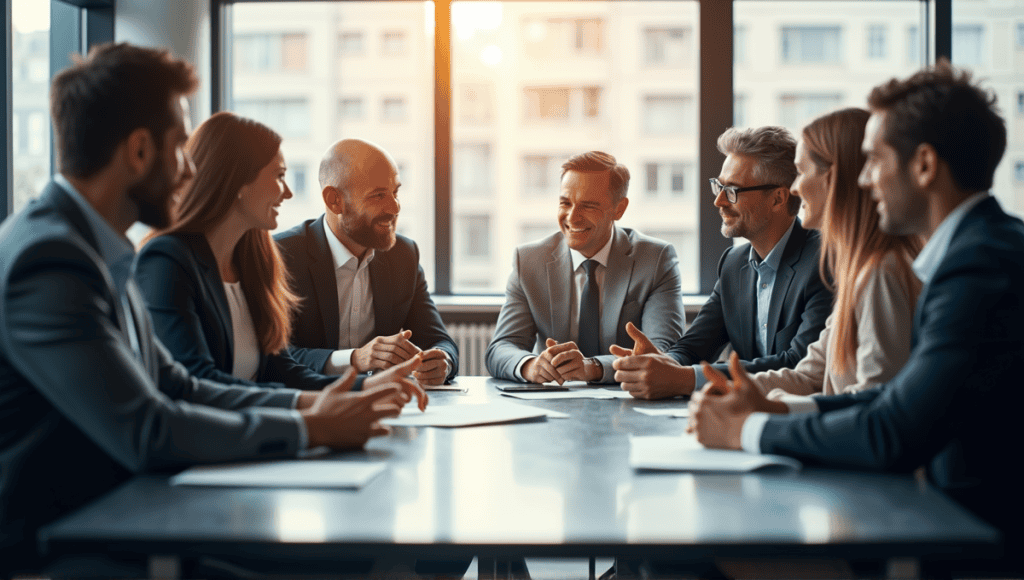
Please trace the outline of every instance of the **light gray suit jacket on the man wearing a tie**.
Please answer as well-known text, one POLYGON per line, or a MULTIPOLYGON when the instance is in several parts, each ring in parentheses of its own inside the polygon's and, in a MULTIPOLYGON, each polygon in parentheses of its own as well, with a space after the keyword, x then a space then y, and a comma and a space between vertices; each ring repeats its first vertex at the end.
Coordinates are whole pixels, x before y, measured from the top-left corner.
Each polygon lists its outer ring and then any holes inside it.
MULTIPOLYGON (((601 351, 612 344, 633 346, 627 322, 667 350, 683 333, 680 290, 679 260, 670 244, 615 227, 601 287, 601 351)), ((571 297, 572 258, 561 233, 516 248, 505 305, 487 346, 487 372, 516 380, 516 366, 544 350, 547 338, 568 340, 571 297)), ((615 358, 597 360, 604 368, 601 382, 613 382, 615 358)))

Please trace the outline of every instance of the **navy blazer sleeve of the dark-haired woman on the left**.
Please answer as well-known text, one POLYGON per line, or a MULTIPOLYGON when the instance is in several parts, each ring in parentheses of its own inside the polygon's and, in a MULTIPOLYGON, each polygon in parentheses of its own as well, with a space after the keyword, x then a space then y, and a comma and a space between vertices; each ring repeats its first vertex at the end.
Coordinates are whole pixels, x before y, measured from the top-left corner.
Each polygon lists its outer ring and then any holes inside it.
POLYGON ((217 321, 204 321, 200 317, 200 312, 207 308, 199 304, 203 298, 198 273, 190 267, 193 258, 183 246, 160 244, 159 248, 154 247, 159 242, 162 240, 152 242, 138 254, 135 282, 145 298, 157 336, 174 360, 198 378, 225 384, 284 387, 282 381, 253 382, 217 368, 203 332, 204 324, 217 324, 217 321))

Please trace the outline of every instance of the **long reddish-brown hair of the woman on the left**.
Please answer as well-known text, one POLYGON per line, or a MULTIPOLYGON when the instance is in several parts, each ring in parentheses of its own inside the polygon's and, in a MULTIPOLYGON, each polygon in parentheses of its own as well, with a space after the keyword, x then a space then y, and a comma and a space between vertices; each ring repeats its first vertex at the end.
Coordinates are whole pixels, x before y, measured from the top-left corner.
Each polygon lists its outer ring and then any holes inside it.
MULTIPOLYGON (((193 132, 185 148, 196 163, 196 176, 176 198, 171 225, 156 235, 207 234, 221 223, 242 187, 254 181, 273 160, 281 135, 252 119, 220 112, 193 132)), ((280 353, 291 339, 292 313, 299 298, 289 284, 278 244, 269 232, 253 227, 239 240, 231 262, 238 268, 261 350, 280 353)))

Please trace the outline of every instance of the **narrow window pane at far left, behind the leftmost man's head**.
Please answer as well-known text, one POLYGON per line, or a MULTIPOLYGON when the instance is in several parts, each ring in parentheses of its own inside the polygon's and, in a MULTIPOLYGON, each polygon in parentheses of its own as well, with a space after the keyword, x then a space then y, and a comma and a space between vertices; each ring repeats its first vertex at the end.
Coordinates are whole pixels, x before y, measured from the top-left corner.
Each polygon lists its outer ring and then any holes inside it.
POLYGON ((11 153, 14 210, 39 195, 50 177, 50 3, 11 4, 11 153))

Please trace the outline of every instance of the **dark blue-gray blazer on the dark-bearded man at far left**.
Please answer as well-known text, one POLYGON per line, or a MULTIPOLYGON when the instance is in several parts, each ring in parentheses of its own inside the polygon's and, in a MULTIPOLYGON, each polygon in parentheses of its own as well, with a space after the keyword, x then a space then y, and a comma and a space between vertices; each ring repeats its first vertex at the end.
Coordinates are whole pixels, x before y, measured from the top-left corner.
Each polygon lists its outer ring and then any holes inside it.
POLYGON ((133 350, 97 248, 54 183, 0 225, 0 576, 34 566, 41 525, 133 473, 298 451, 298 391, 189 377, 129 282, 133 350))

